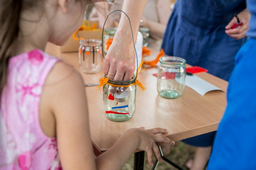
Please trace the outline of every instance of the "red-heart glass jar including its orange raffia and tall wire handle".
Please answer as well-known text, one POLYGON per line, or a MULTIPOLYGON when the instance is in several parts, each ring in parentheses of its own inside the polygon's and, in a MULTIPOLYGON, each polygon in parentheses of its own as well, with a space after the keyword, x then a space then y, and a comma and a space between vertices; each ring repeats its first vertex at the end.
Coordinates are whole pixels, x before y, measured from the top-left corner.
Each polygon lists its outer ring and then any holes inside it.
MULTIPOLYGON (((115 11, 121 11, 121 10, 115 10, 115 11)), ((111 12, 110 14, 112 14, 113 12, 111 12)), ((110 14, 108 14, 108 16, 110 14)), ((106 20, 108 19, 108 16, 106 20)), ((103 25, 103 30, 104 30, 105 23, 103 25)), ((131 27, 131 34, 132 34, 132 26, 130 25, 130 27, 131 27)), ((103 33, 104 32, 105 31, 103 31, 103 33)), ((102 46, 104 45, 104 40, 106 40, 106 38, 103 38, 103 33, 102 33, 102 40, 103 40, 102 46)), ((133 34, 132 34, 132 39, 133 39, 133 34)), ((141 41, 141 46, 142 46, 142 41, 141 41)), ((99 79, 99 86, 97 86, 97 89, 99 91, 103 90, 103 112, 106 118, 112 121, 123 122, 131 119, 135 113, 136 88, 138 86, 141 88, 141 90, 146 89, 139 82, 137 78, 139 73, 138 71, 142 67, 143 62, 140 61, 140 64, 138 64, 138 53, 136 51, 134 41, 133 41, 133 47, 135 49, 137 67, 136 67, 136 74, 133 74, 132 79, 131 80, 112 80, 112 79, 109 79, 107 75, 104 75, 99 79)), ((104 48, 102 47, 102 49, 104 48)), ((142 51, 142 48, 141 48, 141 51, 142 51)), ((104 58, 104 54, 102 55, 104 58)), ((140 54, 140 56, 142 56, 142 54, 140 54)))

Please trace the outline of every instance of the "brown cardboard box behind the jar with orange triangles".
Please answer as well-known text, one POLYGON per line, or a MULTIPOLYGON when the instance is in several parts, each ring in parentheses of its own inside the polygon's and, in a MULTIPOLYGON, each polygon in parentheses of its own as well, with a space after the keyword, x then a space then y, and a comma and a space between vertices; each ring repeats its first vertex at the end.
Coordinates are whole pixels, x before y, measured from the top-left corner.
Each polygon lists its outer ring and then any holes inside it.
MULTIPOLYGON (((90 25, 92 26, 94 23, 98 23, 98 21, 89 21, 90 25)), ((78 31, 80 37, 84 39, 99 39, 102 38, 102 30, 88 30, 88 31, 78 31)), ((71 35, 66 42, 65 45, 60 46, 61 52, 78 52, 79 48, 79 40, 74 40, 73 35, 71 35)))

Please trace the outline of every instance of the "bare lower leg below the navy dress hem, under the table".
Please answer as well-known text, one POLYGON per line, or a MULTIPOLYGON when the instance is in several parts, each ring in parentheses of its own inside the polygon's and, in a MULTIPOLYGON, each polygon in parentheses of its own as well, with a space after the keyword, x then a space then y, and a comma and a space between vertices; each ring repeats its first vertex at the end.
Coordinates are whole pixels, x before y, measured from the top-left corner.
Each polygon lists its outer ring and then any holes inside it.
POLYGON ((194 160, 190 170, 204 170, 210 158, 212 147, 196 147, 194 160))

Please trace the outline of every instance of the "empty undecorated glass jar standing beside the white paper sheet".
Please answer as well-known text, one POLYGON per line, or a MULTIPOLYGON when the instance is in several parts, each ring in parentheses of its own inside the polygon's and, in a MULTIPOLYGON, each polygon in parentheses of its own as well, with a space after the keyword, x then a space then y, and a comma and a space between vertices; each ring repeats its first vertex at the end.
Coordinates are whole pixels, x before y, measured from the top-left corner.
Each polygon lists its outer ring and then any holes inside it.
POLYGON ((163 56, 159 59, 157 92, 161 97, 175 99, 184 92, 186 60, 179 57, 163 56))

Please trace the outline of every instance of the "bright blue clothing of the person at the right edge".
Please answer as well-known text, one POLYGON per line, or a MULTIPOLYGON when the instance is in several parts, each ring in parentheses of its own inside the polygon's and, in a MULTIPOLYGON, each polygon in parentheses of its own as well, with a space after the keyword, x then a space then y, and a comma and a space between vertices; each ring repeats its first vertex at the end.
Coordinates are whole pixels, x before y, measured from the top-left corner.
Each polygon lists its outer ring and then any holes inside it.
POLYGON ((247 7, 251 13, 249 40, 235 58, 227 90, 227 108, 207 170, 256 169, 256 1, 247 0, 247 7))

